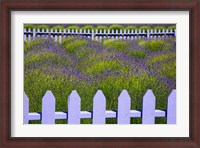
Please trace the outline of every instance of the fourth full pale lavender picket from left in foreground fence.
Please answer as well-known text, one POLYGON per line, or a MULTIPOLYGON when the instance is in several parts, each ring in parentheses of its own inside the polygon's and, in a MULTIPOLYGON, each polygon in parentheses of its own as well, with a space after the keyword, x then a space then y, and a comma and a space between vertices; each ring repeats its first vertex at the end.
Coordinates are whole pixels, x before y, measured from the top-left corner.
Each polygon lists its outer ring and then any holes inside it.
POLYGON ((130 124, 130 104, 131 97, 126 90, 123 90, 118 97, 118 112, 117 123, 118 124, 130 124))

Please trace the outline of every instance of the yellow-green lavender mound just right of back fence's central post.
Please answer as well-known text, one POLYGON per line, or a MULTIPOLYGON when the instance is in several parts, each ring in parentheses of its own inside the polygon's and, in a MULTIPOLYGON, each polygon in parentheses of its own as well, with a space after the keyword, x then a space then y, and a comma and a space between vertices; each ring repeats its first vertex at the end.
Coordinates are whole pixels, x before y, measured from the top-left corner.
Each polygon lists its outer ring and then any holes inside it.
POLYGON ((126 41, 109 39, 109 40, 105 40, 103 42, 103 45, 108 48, 114 48, 117 51, 122 52, 122 53, 128 50, 128 44, 126 41))

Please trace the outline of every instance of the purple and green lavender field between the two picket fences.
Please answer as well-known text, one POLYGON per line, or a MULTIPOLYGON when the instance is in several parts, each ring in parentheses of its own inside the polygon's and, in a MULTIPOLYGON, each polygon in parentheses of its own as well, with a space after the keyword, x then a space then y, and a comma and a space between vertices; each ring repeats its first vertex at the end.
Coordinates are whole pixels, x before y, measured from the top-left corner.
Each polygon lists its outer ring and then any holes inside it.
MULTIPOLYGON (((156 108, 165 110, 169 93, 176 89, 176 39, 108 39, 100 43, 67 37, 59 44, 36 38, 24 42, 24 73, 30 112, 41 112, 47 90, 56 98, 56 111, 67 111, 72 90, 81 97, 81 110, 92 110, 92 99, 99 89, 106 96, 107 110, 117 110, 123 89, 131 96, 131 109, 141 110, 143 95, 152 89, 156 108)), ((81 123, 92 123, 92 119, 81 119, 81 123)), ((106 119, 106 123, 115 124, 116 119, 106 119)), ((131 123, 140 124, 141 119, 131 119, 131 123)), ((166 119, 156 118, 156 123, 165 124, 166 119)))

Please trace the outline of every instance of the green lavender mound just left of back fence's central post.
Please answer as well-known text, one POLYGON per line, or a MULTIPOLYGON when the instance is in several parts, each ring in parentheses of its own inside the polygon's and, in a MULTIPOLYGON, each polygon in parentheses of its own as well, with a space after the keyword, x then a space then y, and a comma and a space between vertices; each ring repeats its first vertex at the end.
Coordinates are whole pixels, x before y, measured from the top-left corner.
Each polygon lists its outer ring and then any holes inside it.
POLYGON ((65 48, 70 52, 74 53, 75 50, 78 48, 82 48, 84 45, 87 45, 89 43, 88 40, 75 40, 73 42, 70 42, 65 46, 65 48))

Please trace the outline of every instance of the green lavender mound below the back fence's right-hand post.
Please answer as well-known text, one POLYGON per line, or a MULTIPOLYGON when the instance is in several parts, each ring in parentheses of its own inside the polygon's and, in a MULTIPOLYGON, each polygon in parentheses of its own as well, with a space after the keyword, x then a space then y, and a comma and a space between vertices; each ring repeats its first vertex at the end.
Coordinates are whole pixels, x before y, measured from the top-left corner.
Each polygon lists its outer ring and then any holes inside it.
POLYGON ((151 51, 169 50, 172 46, 167 44, 164 40, 149 40, 145 43, 145 47, 151 51))

